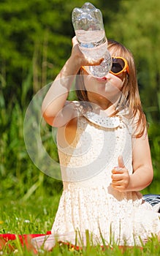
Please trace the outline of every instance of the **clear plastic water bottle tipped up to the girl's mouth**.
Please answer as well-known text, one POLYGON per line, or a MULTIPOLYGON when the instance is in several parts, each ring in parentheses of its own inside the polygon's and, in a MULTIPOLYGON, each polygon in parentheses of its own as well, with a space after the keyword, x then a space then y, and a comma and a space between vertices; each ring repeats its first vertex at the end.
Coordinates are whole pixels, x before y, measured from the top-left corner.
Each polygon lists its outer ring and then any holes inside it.
POLYGON ((112 59, 107 50, 102 12, 93 4, 86 2, 83 7, 72 11, 72 24, 83 54, 92 60, 104 58, 100 65, 89 66, 91 75, 104 77, 110 72, 112 59))

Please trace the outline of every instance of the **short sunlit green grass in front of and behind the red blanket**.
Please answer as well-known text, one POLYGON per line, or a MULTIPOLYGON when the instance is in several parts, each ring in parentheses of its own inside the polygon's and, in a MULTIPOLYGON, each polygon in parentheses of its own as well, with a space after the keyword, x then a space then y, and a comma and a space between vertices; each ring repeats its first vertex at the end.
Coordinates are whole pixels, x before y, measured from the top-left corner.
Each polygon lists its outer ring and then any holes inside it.
MULTIPOLYGON (((29 233, 47 233, 53 225, 53 220, 58 208, 58 201, 61 193, 49 196, 32 195, 28 200, 14 200, 14 198, 4 198, 1 200, 0 213, 0 233, 15 233, 18 235, 29 233)), ((22 246, 18 238, 15 241, 8 241, 7 245, 14 246, 14 250, 5 246, 0 255, 34 255, 33 251, 28 251, 26 246, 22 246)), ((56 244, 51 252, 39 249, 38 255, 146 255, 153 256, 160 254, 160 245, 156 237, 153 237, 143 246, 120 248, 116 244, 111 247, 83 246, 74 249, 65 244, 56 244)))

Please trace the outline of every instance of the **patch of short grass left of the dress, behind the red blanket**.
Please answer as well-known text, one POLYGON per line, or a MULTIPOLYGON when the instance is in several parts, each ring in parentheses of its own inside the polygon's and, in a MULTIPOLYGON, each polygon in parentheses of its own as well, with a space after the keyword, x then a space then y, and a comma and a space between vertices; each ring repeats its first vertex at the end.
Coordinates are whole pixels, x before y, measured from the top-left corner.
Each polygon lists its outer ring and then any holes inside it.
POLYGON ((31 197, 1 201, 1 233, 46 233, 50 230, 58 207, 59 196, 31 197))

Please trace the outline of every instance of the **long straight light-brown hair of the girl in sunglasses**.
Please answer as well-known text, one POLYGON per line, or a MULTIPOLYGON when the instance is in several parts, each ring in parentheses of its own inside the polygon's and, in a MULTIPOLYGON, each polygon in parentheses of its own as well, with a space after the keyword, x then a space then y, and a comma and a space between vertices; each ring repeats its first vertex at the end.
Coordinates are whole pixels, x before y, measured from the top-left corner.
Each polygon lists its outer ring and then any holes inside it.
MULTIPOLYGON (((128 50, 124 45, 114 40, 108 40, 108 50, 114 53, 114 56, 121 56, 126 59, 129 66, 129 74, 126 75, 126 80, 122 89, 123 102, 121 102, 121 107, 124 106, 127 102, 127 107, 129 108, 132 116, 136 118, 136 138, 140 138, 146 127, 145 114, 142 110, 142 104, 140 101, 140 93, 137 83, 137 72, 134 64, 134 58, 130 50, 128 50)), ((87 91, 83 82, 82 69, 77 73, 76 79, 76 93, 77 98, 80 102, 83 102, 85 105, 88 101, 87 91), (79 75, 79 76, 78 76, 79 75)), ((118 111, 117 111, 118 112, 118 111)), ((116 112, 116 113, 117 113, 116 112)))

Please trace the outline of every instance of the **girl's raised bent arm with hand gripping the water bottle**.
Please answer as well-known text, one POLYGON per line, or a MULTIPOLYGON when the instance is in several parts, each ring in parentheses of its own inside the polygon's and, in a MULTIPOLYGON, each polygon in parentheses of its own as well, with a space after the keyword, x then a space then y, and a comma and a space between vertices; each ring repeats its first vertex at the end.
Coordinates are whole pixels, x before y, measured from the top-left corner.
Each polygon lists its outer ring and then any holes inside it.
POLYGON ((72 45, 71 56, 53 81, 42 102, 42 115, 45 121, 55 127, 63 126, 77 115, 72 105, 67 104, 66 99, 72 81, 80 67, 83 65, 97 65, 102 61, 102 59, 98 61, 86 59, 78 47, 76 37, 72 39, 72 45))

